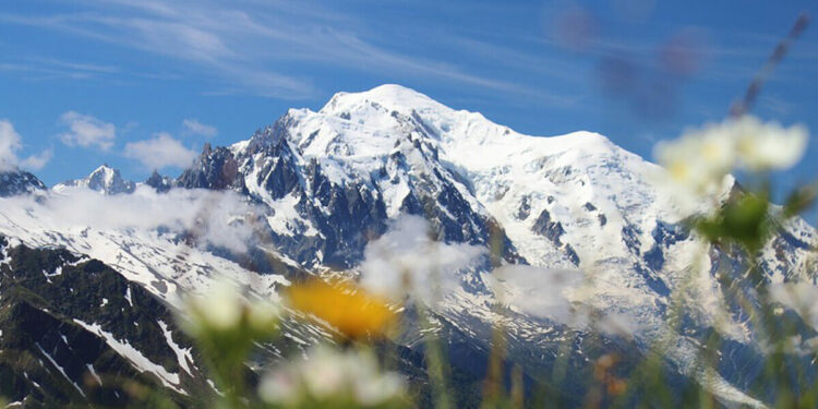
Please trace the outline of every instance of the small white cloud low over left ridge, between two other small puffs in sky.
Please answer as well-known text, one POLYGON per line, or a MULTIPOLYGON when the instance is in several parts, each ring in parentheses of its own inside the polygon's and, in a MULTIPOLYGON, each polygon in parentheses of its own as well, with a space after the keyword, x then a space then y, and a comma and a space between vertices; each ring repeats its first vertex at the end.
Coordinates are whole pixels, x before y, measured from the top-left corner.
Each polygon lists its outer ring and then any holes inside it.
POLYGON ((187 148, 165 132, 154 135, 151 140, 129 142, 124 155, 141 161, 149 169, 184 168, 196 157, 194 151, 187 148))

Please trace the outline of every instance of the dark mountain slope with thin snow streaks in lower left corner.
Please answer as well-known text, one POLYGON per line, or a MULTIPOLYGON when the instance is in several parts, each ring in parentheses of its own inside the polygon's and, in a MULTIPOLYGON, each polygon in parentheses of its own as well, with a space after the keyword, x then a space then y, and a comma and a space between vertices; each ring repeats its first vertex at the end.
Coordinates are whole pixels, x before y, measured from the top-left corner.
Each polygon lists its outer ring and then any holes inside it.
POLYGON ((0 237, 0 385, 26 407, 124 407, 136 385, 191 404, 209 386, 171 311, 99 261, 0 237))

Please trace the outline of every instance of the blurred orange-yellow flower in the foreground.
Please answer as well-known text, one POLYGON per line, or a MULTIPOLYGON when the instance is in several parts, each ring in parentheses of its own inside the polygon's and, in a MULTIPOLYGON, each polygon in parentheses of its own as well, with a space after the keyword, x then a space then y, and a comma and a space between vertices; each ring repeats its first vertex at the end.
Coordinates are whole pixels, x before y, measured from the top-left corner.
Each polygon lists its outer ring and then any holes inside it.
POLYGON ((348 282, 313 279, 289 289, 290 305, 332 325, 352 339, 383 337, 397 321, 386 299, 348 282))

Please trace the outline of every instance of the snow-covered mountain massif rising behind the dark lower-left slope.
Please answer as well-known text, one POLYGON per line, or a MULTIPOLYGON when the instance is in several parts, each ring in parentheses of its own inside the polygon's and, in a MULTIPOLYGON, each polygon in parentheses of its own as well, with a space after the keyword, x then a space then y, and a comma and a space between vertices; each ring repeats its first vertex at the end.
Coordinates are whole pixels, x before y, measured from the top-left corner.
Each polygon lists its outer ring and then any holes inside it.
MULTIPOLYGON (((207 286, 215 272, 265 297, 304 274, 365 275, 368 248, 386 240, 402 215, 416 215, 443 250, 483 250, 434 303, 455 366, 484 371, 476 362, 483 362, 492 324, 502 322, 509 359, 531 380, 551 374, 574 339, 576 371, 567 380, 579 384, 599 349, 587 345, 589 333, 603 334, 603 350, 648 353, 685 293, 698 302, 685 305, 672 339, 673 382, 698 382, 725 405, 760 407, 763 397, 745 392, 762 352, 724 280, 743 272, 729 249, 707 248, 679 222, 685 215, 654 182, 657 172, 596 133, 524 135, 383 85, 336 94, 318 111, 290 109, 231 146, 206 145, 172 183, 155 173, 135 187, 101 167, 55 187, 59 194, 45 203, 3 200, 0 233, 98 258, 173 305, 178 291, 207 286), (107 220, 63 212, 76 203, 94 215, 119 214, 107 220), (729 340, 714 369, 694 359, 709 332, 729 340)), ((765 250, 768 279, 805 279, 814 238, 805 221, 789 222, 765 250)), ((304 338, 320 336, 311 334, 304 338)), ((409 332, 401 342, 413 350, 418 339, 409 332)))

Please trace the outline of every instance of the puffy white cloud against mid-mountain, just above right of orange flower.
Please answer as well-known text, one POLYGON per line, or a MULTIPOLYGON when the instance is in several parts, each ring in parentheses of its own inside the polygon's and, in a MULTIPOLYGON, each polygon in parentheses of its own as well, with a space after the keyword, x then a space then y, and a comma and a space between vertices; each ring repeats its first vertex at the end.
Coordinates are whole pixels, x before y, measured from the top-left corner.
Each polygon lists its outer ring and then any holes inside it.
POLYGON ((409 291, 430 302, 458 288, 459 274, 485 254, 482 246, 433 241, 425 219, 402 216, 366 245, 359 266, 361 285, 395 298, 409 291))

